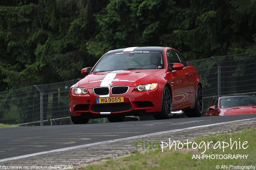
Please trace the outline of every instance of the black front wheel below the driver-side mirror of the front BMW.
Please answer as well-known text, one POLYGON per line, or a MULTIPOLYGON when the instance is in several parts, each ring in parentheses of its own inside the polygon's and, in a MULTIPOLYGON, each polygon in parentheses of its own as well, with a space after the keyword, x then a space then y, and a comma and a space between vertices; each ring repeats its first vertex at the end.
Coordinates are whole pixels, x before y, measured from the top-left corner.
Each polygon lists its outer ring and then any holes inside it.
POLYGON ((172 114, 172 97, 170 90, 167 86, 164 87, 164 93, 162 98, 162 111, 157 115, 154 115, 156 120, 170 119, 172 114))

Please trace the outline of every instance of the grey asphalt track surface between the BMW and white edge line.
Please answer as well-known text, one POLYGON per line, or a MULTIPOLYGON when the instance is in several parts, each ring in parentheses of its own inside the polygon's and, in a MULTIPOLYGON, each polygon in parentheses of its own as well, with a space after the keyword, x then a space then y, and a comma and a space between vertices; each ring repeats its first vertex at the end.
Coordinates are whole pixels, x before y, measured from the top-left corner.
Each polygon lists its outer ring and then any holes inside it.
MULTIPOLYGON (((256 114, 0 129, 0 159, 77 145, 256 118, 256 114)), ((209 129, 211 131, 211 129, 209 129)))

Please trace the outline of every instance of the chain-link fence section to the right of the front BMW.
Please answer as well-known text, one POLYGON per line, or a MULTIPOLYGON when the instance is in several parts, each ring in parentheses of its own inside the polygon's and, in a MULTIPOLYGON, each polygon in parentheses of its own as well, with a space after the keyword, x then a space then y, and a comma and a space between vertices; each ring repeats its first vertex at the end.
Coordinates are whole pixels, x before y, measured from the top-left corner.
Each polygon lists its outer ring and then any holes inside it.
POLYGON ((256 94, 256 52, 211 57, 190 62, 200 73, 204 111, 213 96, 256 94))

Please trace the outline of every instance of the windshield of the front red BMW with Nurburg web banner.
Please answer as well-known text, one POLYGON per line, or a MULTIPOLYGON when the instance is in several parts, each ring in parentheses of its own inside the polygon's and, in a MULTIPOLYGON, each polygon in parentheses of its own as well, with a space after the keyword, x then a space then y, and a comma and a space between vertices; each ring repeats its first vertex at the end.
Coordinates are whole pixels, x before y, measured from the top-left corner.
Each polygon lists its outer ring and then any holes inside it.
POLYGON ((92 72, 163 68, 162 51, 128 51, 105 54, 92 72))

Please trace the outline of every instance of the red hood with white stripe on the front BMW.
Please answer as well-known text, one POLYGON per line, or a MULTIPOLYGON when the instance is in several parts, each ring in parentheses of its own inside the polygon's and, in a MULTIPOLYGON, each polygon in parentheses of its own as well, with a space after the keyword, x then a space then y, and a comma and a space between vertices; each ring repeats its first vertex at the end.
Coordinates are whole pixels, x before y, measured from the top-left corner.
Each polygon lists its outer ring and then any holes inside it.
MULTIPOLYGON (((149 82, 159 74, 165 73, 164 69, 154 70, 118 70, 90 73, 79 81, 79 87, 92 89, 100 86, 138 86, 149 82)), ((157 82, 155 82, 157 83, 157 82)))

